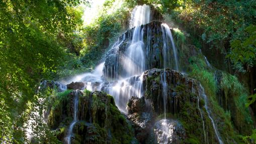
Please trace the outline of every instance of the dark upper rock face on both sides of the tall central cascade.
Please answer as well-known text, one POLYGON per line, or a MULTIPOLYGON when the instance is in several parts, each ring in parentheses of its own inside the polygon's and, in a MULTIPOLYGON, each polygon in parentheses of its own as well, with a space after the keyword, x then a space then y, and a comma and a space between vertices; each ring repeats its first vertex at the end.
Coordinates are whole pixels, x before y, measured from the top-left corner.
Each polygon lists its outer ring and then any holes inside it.
MULTIPOLYGON (((152 68, 163 68, 163 57, 167 56, 166 67, 174 68, 173 51, 168 49, 163 50, 164 38, 163 28, 161 22, 152 21, 146 25, 141 25, 139 30, 143 34, 144 55, 145 55, 145 70, 152 68)), ((127 62, 126 51, 130 46, 135 28, 125 32, 113 48, 107 53, 104 65, 104 77, 110 79, 117 79, 126 76, 127 67, 124 62, 127 62)), ((170 45, 171 41, 166 40, 166 44, 170 45)), ((170 46, 172 47, 172 46, 170 46)))

